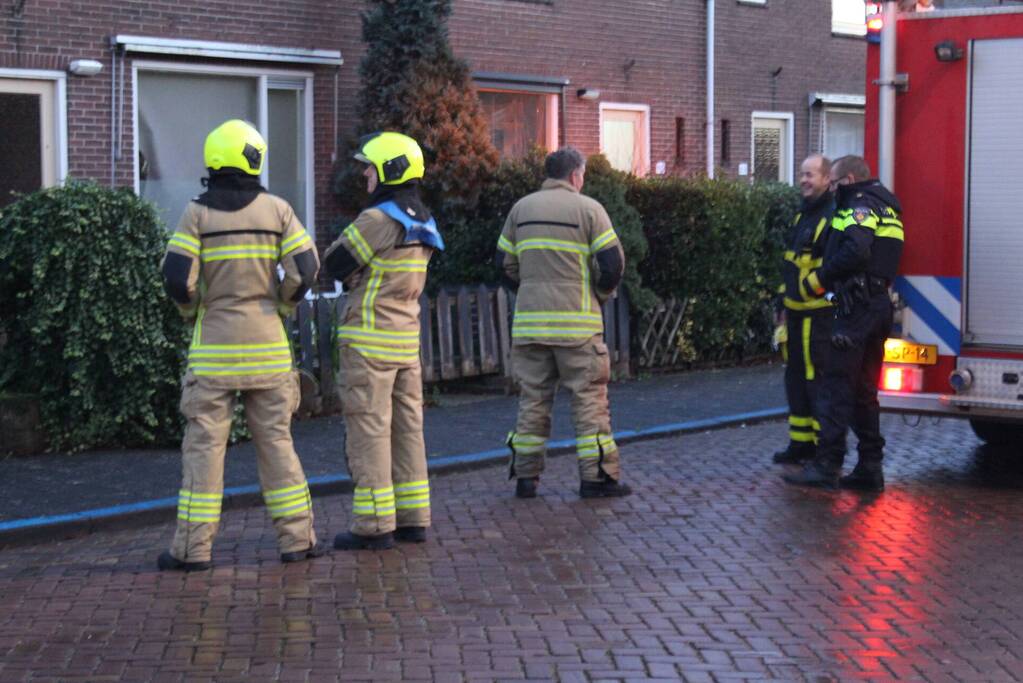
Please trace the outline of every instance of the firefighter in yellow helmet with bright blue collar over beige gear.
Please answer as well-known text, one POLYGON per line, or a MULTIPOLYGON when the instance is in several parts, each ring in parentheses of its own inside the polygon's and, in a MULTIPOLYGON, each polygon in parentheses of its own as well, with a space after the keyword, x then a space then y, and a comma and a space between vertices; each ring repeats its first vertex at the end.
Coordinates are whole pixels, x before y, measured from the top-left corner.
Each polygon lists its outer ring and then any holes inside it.
POLYGON ((425 166, 415 140, 368 135, 355 158, 366 165, 369 203, 323 256, 348 289, 338 386, 355 484, 350 531, 333 546, 381 550, 394 540, 421 543, 430 526, 419 294, 444 241, 419 198, 425 166))

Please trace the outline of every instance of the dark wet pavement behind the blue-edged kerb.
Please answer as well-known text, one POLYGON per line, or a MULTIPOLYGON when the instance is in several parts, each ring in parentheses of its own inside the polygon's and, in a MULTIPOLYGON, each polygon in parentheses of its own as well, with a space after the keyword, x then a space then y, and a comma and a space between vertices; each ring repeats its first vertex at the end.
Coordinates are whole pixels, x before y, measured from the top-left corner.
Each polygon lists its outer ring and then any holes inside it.
MULTIPOLYGON (((660 375, 611 385, 616 431, 785 406, 781 364, 660 375)), ((502 449, 515 426, 514 396, 441 395, 425 412, 430 457, 502 449)), ((553 439, 573 436, 563 392, 554 405, 553 439)), ((339 416, 296 421, 295 446, 309 477, 347 471, 339 416)), ((255 485, 252 443, 227 451, 224 484, 255 485)), ((0 522, 177 496, 177 449, 92 451, 0 460, 0 522), (116 475, 112 475, 115 473, 116 475)))

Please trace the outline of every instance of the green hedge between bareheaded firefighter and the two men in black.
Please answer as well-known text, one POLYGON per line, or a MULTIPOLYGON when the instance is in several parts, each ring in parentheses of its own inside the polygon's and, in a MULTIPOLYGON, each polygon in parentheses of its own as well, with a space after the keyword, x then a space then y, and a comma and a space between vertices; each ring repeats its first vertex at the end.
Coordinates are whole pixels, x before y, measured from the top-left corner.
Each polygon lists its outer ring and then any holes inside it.
POLYGON ((732 180, 633 180, 650 253, 639 269, 657 295, 690 303, 677 344, 690 360, 742 358, 768 348, 780 235, 798 194, 732 180))

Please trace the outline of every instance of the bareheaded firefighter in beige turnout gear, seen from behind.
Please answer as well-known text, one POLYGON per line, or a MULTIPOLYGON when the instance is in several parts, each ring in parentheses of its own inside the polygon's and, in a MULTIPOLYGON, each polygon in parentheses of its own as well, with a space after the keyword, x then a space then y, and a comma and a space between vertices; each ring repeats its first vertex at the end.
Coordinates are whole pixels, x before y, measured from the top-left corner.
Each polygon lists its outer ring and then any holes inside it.
POLYGON ((541 189, 520 199, 497 243, 505 283, 518 289, 511 366, 521 388, 507 438, 516 495, 533 498, 543 471, 550 410, 561 382, 572 394, 580 496, 624 496, 611 431, 611 363, 601 304, 621 281, 625 256, 611 219, 580 194, 585 161, 572 148, 549 154, 541 189))

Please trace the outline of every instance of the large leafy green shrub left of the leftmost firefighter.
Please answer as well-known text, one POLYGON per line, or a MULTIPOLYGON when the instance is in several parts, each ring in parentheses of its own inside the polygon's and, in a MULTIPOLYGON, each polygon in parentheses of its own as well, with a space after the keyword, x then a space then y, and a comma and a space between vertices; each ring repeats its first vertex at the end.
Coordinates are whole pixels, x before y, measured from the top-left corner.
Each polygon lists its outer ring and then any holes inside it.
POLYGON ((163 291, 166 241, 128 189, 69 182, 0 211, 0 390, 39 396, 52 448, 179 435, 187 334, 163 291))

